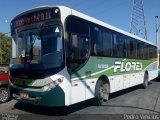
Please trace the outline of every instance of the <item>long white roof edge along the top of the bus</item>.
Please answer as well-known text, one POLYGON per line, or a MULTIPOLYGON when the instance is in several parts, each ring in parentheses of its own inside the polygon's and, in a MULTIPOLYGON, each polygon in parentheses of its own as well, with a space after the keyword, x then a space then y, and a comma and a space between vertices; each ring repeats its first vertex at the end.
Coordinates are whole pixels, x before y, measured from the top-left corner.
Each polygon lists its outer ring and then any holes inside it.
MULTIPOLYGON (((106 23, 106 22, 103 22, 103 21, 101 21, 101 20, 95 19, 95 18, 93 18, 93 17, 90 17, 90 16, 88 16, 88 15, 86 15, 86 14, 84 14, 84 13, 78 12, 78 11, 76 11, 76 10, 74 10, 74 9, 71 9, 71 8, 69 8, 69 7, 66 7, 66 6, 59 6, 59 5, 57 5, 57 6, 49 6, 49 5, 39 6, 39 7, 35 7, 35 8, 32 8, 32 9, 26 10, 26 11, 24 11, 24 12, 21 12, 21 13, 20 13, 19 15, 17 15, 16 17, 18 17, 18 16, 20 16, 20 15, 22 15, 22 14, 25 14, 25 13, 31 11, 31 10, 37 10, 37 9, 41 9, 41 8, 52 8, 52 7, 58 7, 60 10, 70 9, 70 10, 71 10, 71 14, 74 15, 74 16, 80 17, 80 18, 85 19, 85 20, 87 20, 87 21, 90 21, 90 22, 92 22, 92 23, 98 24, 98 25, 100 25, 100 26, 106 27, 106 28, 111 29, 111 30, 113 30, 113 31, 122 33, 122 34, 124 34, 124 35, 129 36, 129 37, 132 37, 132 38, 135 38, 135 39, 138 39, 138 40, 140 40, 140 41, 143 41, 143 42, 146 42, 146 43, 149 43, 149 44, 151 44, 151 45, 156 46, 153 42, 147 41, 147 40, 145 40, 145 39, 143 39, 143 38, 140 38, 140 37, 138 37, 138 36, 136 36, 136 35, 133 35, 133 34, 131 34, 131 33, 129 33, 129 32, 126 32, 126 31, 124 31, 124 30, 122 30, 122 29, 119 29, 119 28, 117 28, 117 27, 114 27, 114 26, 112 26, 112 25, 110 25, 110 24, 108 24, 108 23, 106 23)), ((14 18, 16 18, 16 17, 14 17, 14 18)), ((13 18, 13 19, 14 19, 14 18, 13 18)), ((13 19, 12 19, 12 20, 13 20, 13 19)))

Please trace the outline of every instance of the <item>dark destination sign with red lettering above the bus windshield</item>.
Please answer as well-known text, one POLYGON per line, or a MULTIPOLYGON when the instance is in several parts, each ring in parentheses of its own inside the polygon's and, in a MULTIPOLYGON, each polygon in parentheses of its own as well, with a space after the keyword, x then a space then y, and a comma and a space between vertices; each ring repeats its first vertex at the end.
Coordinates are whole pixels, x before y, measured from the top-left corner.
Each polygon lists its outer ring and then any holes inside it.
POLYGON ((12 21, 11 27, 17 28, 32 23, 55 19, 55 18, 60 18, 60 12, 58 8, 40 10, 24 14, 22 16, 19 16, 18 18, 15 18, 15 20, 12 21))

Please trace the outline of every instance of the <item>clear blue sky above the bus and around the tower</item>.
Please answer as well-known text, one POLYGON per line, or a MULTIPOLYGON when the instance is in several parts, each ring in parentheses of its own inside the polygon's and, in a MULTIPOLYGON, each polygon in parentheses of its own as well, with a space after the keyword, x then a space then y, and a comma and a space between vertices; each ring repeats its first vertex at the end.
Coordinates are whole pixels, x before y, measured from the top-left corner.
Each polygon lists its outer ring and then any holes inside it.
MULTIPOLYGON (((44 5, 67 6, 127 32, 130 31, 132 0, 4 0, 0 5, 0 32, 10 32, 9 22, 19 13, 44 5)), ((148 39, 154 43, 156 41, 155 16, 159 16, 160 19, 159 6, 160 0, 144 0, 148 39)))

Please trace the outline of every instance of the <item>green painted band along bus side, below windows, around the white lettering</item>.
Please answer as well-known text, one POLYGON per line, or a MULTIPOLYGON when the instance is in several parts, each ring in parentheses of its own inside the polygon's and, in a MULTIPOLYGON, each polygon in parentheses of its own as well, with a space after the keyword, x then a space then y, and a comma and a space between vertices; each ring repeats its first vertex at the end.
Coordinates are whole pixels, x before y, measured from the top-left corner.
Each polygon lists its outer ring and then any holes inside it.
POLYGON ((101 75, 107 75, 107 76, 114 76, 114 75, 123 75, 123 74, 131 74, 131 73, 138 73, 143 70, 155 70, 157 63, 154 63, 154 60, 138 60, 138 59, 124 59, 124 58, 110 58, 110 57, 90 57, 87 64, 81 68, 79 71, 75 72, 71 75, 72 80, 78 80, 78 79, 92 79, 92 78, 98 78, 101 75), (96 61, 96 62, 95 62, 96 61), (117 72, 114 72, 114 64, 116 61, 123 61, 124 64, 127 62, 138 62, 142 63, 142 70, 133 70, 131 69, 128 72, 120 72, 120 70, 117 70, 117 72), (152 65, 153 64, 153 65, 152 65), (155 67, 153 67, 155 66, 155 67), (102 71, 102 72, 101 72, 102 71), (86 76, 86 72, 91 72, 89 76, 86 76))

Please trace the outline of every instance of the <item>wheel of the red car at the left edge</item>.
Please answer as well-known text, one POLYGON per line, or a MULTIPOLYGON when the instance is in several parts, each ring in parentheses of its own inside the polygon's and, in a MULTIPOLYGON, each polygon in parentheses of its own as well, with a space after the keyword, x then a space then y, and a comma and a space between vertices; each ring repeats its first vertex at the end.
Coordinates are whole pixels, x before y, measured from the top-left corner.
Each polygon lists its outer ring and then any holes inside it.
POLYGON ((9 90, 5 87, 0 88, 0 104, 5 103, 10 98, 9 90))

